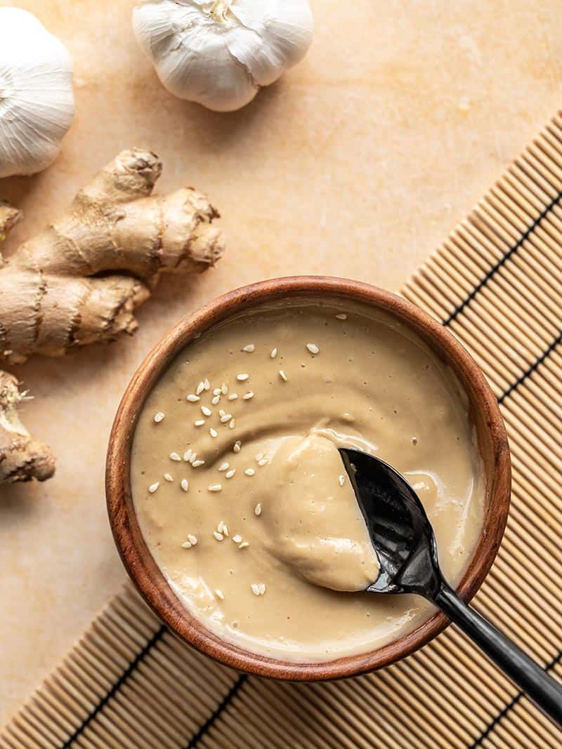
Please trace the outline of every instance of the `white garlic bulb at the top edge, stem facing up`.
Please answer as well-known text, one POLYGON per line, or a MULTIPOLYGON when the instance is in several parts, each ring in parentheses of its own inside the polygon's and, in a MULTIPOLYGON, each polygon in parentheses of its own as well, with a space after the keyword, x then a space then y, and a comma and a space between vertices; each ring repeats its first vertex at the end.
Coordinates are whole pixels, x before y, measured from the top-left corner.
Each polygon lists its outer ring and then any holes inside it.
POLYGON ((229 112, 304 57, 312 12, 308 0, 142 0, 133 29, 168 91, 229 112))

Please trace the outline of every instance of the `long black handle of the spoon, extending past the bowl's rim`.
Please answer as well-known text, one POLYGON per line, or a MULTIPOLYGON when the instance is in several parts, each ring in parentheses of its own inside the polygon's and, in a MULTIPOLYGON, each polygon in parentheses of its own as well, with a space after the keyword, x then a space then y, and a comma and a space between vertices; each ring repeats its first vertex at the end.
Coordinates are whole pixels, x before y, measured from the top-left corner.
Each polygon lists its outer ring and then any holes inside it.
POLYGON ((476 643, 497 666, 525 691, 545 715, 562 728, 562 684, 549 676, 515 643, 465 604, 447 583, 433 602, 476 643))

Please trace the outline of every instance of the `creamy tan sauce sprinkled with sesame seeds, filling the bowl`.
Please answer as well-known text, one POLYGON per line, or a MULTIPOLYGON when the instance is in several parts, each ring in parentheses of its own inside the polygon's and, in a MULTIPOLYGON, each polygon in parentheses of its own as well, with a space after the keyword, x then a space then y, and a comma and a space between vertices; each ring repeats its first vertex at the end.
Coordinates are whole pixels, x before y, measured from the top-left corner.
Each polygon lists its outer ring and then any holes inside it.
POLYGON ((473 432, 452 373, 395 318, 294 300, 181 351, 139 418, 133 500, 154 560, 208 628, 273 657, 335 659, 430 613, 361 592, 378 560, 337 447, 405 474, 454 583, 483 517, 473 432))

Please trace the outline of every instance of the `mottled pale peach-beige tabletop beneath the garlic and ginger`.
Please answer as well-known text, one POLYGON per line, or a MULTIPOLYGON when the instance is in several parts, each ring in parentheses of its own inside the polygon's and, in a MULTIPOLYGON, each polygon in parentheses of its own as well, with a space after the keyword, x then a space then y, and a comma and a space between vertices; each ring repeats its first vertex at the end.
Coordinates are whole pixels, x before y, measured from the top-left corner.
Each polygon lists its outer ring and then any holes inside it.
MULTIPOLYGON (((0 5, 13 4, 0 0, 0 5)), ((306 60, 247 109, 173 99, 136 49, 133 0, 27 0, 73 54, 76 121, 51 169, 0 181, 37 230, 121 148, 164 163, 223 213, 228 255, 164 279, 133 339, 16 373, 25 421, 58 456, 44 485, 0 490, 0 723, 124 577, 103 498, 121 391, 181 315, 267 276, 330 273, 397 288, 561 103, 558 0, 312 0, 306 60)))

